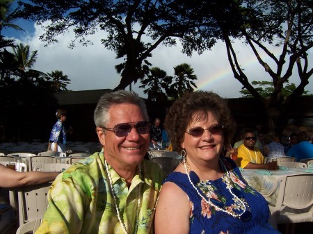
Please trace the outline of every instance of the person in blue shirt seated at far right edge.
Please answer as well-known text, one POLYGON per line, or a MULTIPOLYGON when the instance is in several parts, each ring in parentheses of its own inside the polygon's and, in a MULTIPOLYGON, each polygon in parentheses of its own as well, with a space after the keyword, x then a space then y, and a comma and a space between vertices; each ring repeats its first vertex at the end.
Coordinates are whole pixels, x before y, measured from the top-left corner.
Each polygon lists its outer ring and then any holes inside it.
POLYGON ((298 133, 298 144, 292 146, 287 152, 287 156, 296 158, 297 162, 301 159, 313 158, 313 144, 307 141, 307 133, 298 133))

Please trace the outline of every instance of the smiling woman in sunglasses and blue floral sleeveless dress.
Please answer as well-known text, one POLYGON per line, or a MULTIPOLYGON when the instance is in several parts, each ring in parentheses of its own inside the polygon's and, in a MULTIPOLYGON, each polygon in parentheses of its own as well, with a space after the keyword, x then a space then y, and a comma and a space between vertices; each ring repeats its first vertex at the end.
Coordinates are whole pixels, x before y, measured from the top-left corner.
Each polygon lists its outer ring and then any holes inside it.
POLYGON ((220 157, 234 121, 212 92, 191 92, 173 103, 166 129, 183 160, 166 178, 155 217, 156 234, 279 233, 268 224, 266 200, 220 157))

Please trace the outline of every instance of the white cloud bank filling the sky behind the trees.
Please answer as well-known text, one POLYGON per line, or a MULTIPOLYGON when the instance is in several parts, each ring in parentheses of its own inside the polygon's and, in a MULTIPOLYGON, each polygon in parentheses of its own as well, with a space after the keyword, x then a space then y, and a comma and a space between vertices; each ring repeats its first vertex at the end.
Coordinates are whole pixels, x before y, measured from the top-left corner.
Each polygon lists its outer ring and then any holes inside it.
MULTIPOLYGON (((72 32, 59 36, 58 43, 50 44, 47 47, 44 47, 44 43, 39 40, 41 34, 42 29, 35 26, 33 35, 25 37, 22 41, 22 43, 30 45, 31 51, 38 50, 38 60, 33 69, 46 73, 56 69, 61 70, 71 79, 71 84, 67 86, 70 90, 113 89, 120 82, 120 76, 114 69, 119 61, 115 59, 113 51, 105 49, 100 43, 100 39, 105 35, 102 31, 88 37, 94 43, 93 46, 83 47, 77 43, 74 49, 67 47, 70 40, 74 38, 72 32)), ((258 64, 252 51, 248 51, 246 45, 236 42, 236 50, 240 64, 248 74, 250 81, 269 80, 268 74, 258 64)), ((216 44, 211 51, 205 51, 200 56, 194 53, 191 58, 181 51, 181 46, 160 46, 152 51, 152 58, 149 61, 153 67, 160 67, 168 72, 168 75, 173 75, 173 67, 182 62, 187 62, 198 76, 195 83, 199 89, 214 91, 225 98, 241 97, 239 91, 242 85, 231 72, 225 45, 222 42, 216 44)), ((275 51, 279 52, 279 49, 275 49, 275 51)), ((312 61, 312 50, 309 53, 312 61)), ((298 84, 297 74, 294 74, 295 78, 291 79, 291 83, 298 84)), ((310 80, 312 81, 312 77, 310 80)), ((138 85, 140 82, 136 85, 133 84, 133 90, 144 97, 143 89, 139 89, 138 85)), ((307 85, 306 90, 313 93, 313 85, 307 85)))

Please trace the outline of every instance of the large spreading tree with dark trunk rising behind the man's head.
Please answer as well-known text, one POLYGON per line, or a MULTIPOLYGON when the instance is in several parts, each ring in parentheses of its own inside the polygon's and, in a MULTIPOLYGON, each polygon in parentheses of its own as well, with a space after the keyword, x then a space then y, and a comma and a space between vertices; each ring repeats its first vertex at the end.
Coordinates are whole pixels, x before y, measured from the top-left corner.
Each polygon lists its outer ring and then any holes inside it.
MULTIPOLYGON (((175 0, 30 0, 19 4, 22 17, 45 26, 40 38, 47 44, 57 42, 56 35, 68 30, 75 33, 72 46, 77 41, 88 44, 87 35, 105 31, 102 44, 125 61, 116 67, 122 78, 115 90, 143 78, 147 69, 142 64, 149 65, 147 58, 159 44, 172 46, 176 37, 189 40, 197 32, 186 17, 193 12, 186 12, 175 0)), ((214 42, 208 39, 205 44, 211 47, 214 42)))

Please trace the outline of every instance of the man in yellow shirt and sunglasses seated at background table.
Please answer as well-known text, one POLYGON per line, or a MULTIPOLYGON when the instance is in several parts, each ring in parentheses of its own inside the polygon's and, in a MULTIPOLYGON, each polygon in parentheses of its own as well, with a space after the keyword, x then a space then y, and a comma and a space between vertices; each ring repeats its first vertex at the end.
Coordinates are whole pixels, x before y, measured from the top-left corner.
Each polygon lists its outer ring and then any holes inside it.
POLYGON ((275 162, 267 162, 264 164, 264 156, 259 148, 255 146, 255 142, 257 142, 257 137, 253 129, 243 129, 243 144, 238 147, 237 165, 246 169, 278 169, 275 162))

